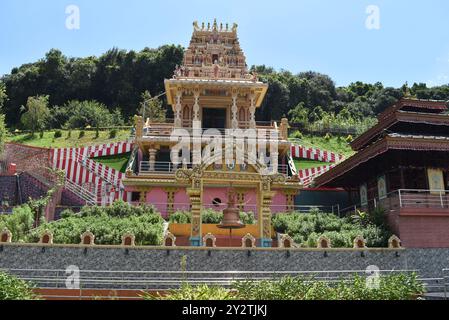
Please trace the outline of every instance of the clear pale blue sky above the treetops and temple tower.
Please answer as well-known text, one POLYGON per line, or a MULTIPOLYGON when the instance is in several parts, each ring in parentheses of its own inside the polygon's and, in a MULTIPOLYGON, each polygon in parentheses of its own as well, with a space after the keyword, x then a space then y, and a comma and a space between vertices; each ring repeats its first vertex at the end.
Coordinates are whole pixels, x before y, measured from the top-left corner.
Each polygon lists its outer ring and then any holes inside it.
POLYGON ((400 86, 449 83, 449 1, 446 0, 1 0, 0 75, 58 48, 68 56, 112 47, 141 50, 186 46, 194 20, 239 24, 248 64, 400 86), (80 29, 66 28, 68 5, 80 29), (380 29, 366 9, 376 5, 380 29))

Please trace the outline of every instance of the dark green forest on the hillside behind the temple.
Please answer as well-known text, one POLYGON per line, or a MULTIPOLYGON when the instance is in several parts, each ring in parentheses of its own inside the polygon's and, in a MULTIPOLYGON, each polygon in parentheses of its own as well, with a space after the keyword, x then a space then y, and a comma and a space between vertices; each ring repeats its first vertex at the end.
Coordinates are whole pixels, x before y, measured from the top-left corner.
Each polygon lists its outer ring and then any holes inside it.
MULTIPOLYGON (((139 52, 113 48, 99 57, 72 58, 52 49, 39 61, 16 67, 0 78, 0 107, 6 124, 10 129, 33 132, 130 124, 144 97, 164 92, 164 79, 171 78, 181 64, 183 50, 176 45, 139 52), (43 115, 42 119, 35 114, 43 115)), ((381 82, 355 81, 337 87, 329 76, 317 72, 293 74, 264 65, 250 69, 269 84, 257 111, 259 121, 287 116, 295 124, 370 125, 378 113, 404 95, 449 100, 449 85, 429 88, 406 83, 391 88, 381 82)), ((159 107, 171 116, 163 99, 159 107)))

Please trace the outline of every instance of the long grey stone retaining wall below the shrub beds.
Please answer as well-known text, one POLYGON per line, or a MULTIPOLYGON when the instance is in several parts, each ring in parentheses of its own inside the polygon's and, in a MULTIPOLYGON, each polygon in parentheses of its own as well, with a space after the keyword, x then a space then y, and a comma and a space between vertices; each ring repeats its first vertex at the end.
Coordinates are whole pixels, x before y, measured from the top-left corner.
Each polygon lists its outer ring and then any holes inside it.
POLYGON ((381 270, 418 270, 423 277, 440 277, 449 267, 447 249, 360 250, 279 250, 123 247, 38 244, 3 244, 0 269, 65 269, 77 265, 81 270, 179 271, 181 258, 187 270, 198 271, 326 271, 365 270, 376 265, 381 270), (209 253, 210 252, 210 253, 209 253), (250 255, 248 255, 250 252, 250 255), (362 252, 364 255, 362 256, 362 252))

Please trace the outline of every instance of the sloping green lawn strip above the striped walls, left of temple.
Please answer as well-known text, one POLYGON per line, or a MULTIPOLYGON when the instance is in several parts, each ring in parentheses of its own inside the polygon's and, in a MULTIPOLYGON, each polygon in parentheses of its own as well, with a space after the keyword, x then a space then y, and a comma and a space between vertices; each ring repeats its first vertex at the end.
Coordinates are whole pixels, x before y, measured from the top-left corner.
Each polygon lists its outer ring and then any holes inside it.
POLYGON ((22 143, 33 147, 67 148, 118 142, 126 140, 130 136, 130 130, 118 130, 117 137, 114 139, 109 139, 109 131, 100 131, 98 138, 95 138, 95 131, 84 131, 85 135, 82 138, 79 138, 80 130, 73 130, 70 137, 68 137, 67 130, 61 131, 62 137, 57 139, 54 138, 54 131, 46 131, 42 138, 39 133, 36 133, 34 137, 28 133, 9 135, 6 137, 6 142, 22 143))

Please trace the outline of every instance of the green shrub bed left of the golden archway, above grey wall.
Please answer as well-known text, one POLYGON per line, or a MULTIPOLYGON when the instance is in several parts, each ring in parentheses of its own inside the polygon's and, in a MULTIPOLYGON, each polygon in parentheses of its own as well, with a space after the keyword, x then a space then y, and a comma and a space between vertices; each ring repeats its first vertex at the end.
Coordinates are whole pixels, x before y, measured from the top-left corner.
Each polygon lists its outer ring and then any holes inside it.
POLYGON ((116 201, 110 207, 84 207, 79 214, 64 211, 62 219, 45 223, 34 230, 28 241, 36 242, 45 230, 53 232, 54 243, 78 244, 86 231, 95 235, 96 244, 119 245, 125 233, 135 235, 137 245, 160 245, 164 219, 153 207, 134 207, 116 201))

